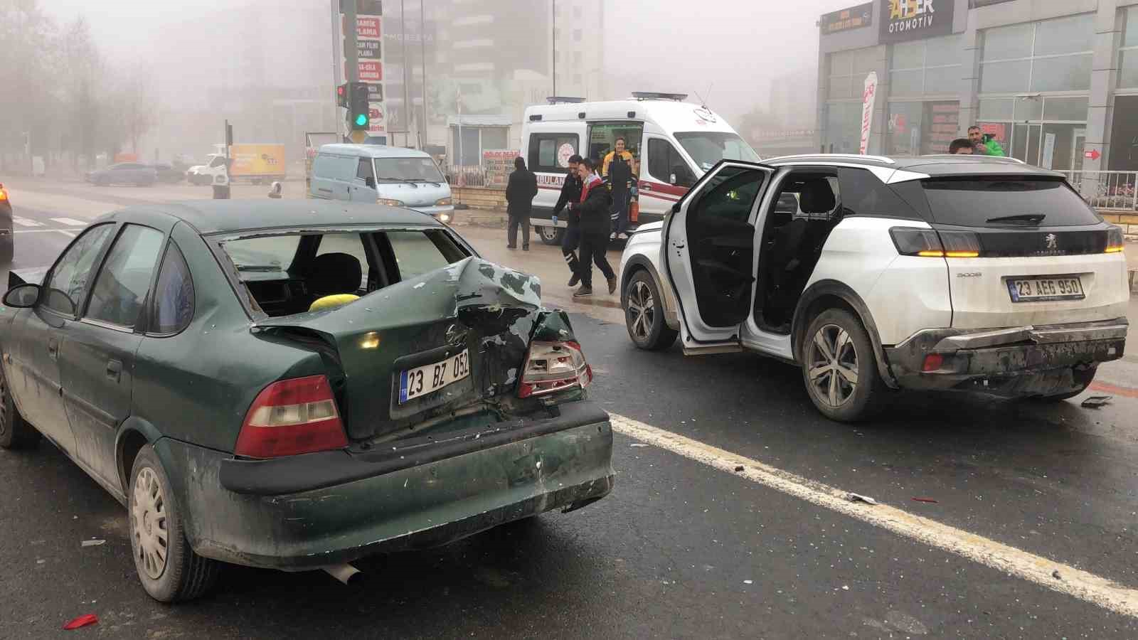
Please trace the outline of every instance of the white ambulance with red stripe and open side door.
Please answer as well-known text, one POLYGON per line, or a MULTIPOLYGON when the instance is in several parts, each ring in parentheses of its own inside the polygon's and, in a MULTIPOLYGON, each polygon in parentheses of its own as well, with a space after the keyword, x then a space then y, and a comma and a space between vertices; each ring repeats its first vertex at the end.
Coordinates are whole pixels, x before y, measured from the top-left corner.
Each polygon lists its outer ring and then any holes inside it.
POLYGON ((616 139, 626 140, 638 177, 628 232, 663 220, 717 162, 760 159, 723 117, 686 99, 683 93, 634 92, 626 100, 586 102, 559 97, 528 107, 521 154, 526 166, 537 174, 530 224, 542 240, 558 245, 564 235, 564 212, 554 222, 553 207, 574 154, 592 158, 600 173, 616 139))

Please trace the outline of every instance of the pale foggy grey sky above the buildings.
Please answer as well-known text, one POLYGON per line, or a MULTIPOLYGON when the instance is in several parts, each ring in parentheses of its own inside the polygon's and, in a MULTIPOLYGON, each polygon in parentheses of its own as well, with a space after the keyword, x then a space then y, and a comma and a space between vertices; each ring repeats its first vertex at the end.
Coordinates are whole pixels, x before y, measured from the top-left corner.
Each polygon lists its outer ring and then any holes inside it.
MULTIPOLYGON (((429 2, 429 0, 427 0, 429 2)), ((549 0, 534 0, 543 2, 549 0)), ((312 0, 327 7, 328 0, 312 0)), ((390 0, 387 11, 398 11, 390 0)), ((728 120, 752 107, 766 108, 770 81, 787 73, 817 69, 818 28, 826 11, 858 0, 618 0, 605 5, 605 87, 624 97, 633 90, 678 91, 728 120), (708 93, 708 88, 711 88, 708 93)), ((108 57, 129 59, 154 55, 163 75, 176 54, 154 51, 152 34, 163 26, 218 9, 247 6, 253 0, 41 0, 60 20, 83 14, 108 57), (172 54, 175 54, 172 56, 172 54)), ((272 7, 272 2, 261 2, 272 7)), ((412 2, 418 6, 418 2, 412 2)), ((485 0, 493 10, 494 0, 485 0)), ((429 5, 428 5, 429 7, 429 5)), ((410 11, 410 10, 409 10, 410 11)), ((287 34, 282 34, 287 41, 287 34)), ((290 43, 295 44, 295 43, 290 43)))

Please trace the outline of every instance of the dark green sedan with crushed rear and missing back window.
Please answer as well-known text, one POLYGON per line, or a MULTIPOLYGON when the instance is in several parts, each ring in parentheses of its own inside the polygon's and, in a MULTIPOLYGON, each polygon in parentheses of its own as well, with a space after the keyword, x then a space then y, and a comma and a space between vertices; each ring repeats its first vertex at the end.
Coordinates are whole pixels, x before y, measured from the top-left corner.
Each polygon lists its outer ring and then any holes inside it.
POLYGON ((126 506, 158 600, 203 593, 218 561, 343 569, 612 487, 566 313, 420 213, 133 207, 22 281, 0 445, 42 435, 126 506))

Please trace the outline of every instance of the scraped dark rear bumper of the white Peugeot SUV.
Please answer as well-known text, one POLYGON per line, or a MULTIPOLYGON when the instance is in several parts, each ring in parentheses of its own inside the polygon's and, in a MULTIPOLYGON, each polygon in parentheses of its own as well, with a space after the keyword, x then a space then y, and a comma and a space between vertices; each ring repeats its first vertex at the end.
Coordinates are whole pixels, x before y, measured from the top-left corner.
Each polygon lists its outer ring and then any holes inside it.
POLYGON ((1075 370, 1122 358, 1125 318, 1097 322, 962 331, 926 329, 885 347, 901 388, 1052 395, 1078 388, 1075 370), (926 358, 940 364, 925 371, 926 358))

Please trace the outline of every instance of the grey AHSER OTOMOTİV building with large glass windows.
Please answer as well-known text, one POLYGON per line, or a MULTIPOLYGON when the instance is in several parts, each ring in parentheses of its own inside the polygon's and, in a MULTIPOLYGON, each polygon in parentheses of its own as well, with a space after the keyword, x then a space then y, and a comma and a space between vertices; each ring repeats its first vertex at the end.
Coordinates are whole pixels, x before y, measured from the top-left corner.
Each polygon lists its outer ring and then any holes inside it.
POLYGON ((1138 0, 873 0, 822 16, 818 148, 946 153, 972 124, 1054 170, 1138 170, 1138 0))

